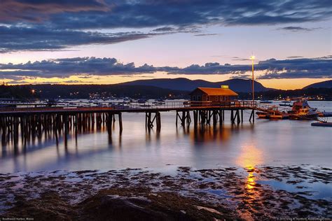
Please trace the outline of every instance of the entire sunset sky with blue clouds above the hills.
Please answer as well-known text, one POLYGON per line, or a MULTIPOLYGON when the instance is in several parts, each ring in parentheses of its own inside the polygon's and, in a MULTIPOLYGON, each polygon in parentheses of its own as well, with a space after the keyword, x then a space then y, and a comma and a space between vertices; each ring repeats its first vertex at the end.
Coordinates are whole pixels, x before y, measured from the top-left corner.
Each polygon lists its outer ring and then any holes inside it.
POLYGON ((297 89, 332 79, 330 0, 4 0, 0 80, 113 84, 251 78, 297 89))

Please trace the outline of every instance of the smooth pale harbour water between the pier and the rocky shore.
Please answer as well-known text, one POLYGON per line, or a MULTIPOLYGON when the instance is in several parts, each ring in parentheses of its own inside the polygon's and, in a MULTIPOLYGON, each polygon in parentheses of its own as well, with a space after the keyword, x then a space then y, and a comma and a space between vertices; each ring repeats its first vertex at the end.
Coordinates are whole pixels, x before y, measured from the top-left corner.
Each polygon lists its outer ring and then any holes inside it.
MULTIPOLYGON (((332 102, 312 101, 310 106, 332 111, 332 102)), ((331 127, 312 127, 310 121, 255 120, 231 125, 226 111, 223 127, 195 131, 176 127, 175 113, 162 113, 160 134, 145 130, 144 113, 123 114, 123 134, 115 124, 111 138, 106 130, 69 135, 67 148, 60 138, 41 138, 25 148, 1 147, 0 172, 85 169, 162 169, 167 164, 214 168, 216 166, 298 165, 332 167, 331 127)), ((331 117, 329 119, 331 121, 331 117)), ((116 122, 117 123, 117 122, 116 122)))

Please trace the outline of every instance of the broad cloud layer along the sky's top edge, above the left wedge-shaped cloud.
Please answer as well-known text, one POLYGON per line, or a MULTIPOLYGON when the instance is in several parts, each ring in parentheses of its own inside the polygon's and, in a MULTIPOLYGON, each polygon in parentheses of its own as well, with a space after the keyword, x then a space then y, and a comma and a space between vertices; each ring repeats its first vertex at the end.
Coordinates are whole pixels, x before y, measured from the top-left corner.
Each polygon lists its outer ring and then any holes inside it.
POLYGON ((0 22, 47 21, 64 28, 156 27, 193 24, 284 24, 324 20, 329 0, 5 1, 0 22), (46 17, 45 15, 48 15, 46 17))

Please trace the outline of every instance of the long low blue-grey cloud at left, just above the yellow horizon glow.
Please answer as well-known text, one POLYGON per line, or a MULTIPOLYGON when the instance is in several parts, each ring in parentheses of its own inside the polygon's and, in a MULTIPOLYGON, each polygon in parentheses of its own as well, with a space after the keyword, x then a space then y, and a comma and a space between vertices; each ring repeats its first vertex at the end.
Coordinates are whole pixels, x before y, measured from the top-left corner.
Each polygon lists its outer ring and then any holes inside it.
MULTIPOLYGON (((88 74, 94 76, 153 73, 155 68, 144 64, 136 67, 134 63, 121 64, 115 58, 75 57, 65 59, 27 62, 25 64, 0 64, 1 78, 67 78, 88 74)), ((87 78, 83 76, 83 78, 87 78)))

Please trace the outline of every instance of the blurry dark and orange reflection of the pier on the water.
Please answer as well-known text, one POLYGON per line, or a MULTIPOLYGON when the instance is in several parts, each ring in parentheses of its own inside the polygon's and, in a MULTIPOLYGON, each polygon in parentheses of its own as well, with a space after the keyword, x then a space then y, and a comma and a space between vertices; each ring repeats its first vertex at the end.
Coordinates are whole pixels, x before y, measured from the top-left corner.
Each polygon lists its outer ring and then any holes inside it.
MULTIPOLYGON (((74 125, 74 124, 73 124, 74 125)), ((174 128, 174 124, 171 124, 174 128)), ((141 128, 141 123, 135 124, 135 126, 141 128)), ((188 143, 192 143, 193 146, 202 146, 207 143, 227 143, 232 136, 237 136, 238 131, 240 130, 251 130, 253 127, 251 125, 201 125, 194 127, 193 124, 186 125, 185 127, 176 127, 177 135, 174 141, 179 139, 185 139, 188 143)), ((167 131, 164 133, 155 128, 148 128, 145 130, 140 130, 140 133, 137 134, 137 131, 132 134, 125 134, 125 145, 133 145, 136 143, 141 143, 140 146, 153 146, 161 144, 165 145, 167 142, 165 139, 165 134, 168 134, 167 131), (145 134, 145 142, 141 143, 140 133, 145 134), (134 143, 128 144, 128 138, 130 142, 134 143)), ((174 134, 169 134, 174 136, 174 134)), ((167 135, 168 136, 168 135, 167 135)), ((86 148, 85 152, 94 152, 93 148, 95 146, 103 146, 103 150, 110 150, 113 148, 121 148, 123 145, 123 134, 118 132, 118 124, 115 120, 112 119, 111 124, 87 124, 87 127, 83 127, 81 130, 76 130, 75 127, 70 127, 65 130, 50 129, 50 130, 41 130, 41 133, 30 134, 26 138, 18 139, 15 143, 11 139, 6 139, 4 145, 2 145, 2 150, 0 152, 1 158, 26 155, 29 152, 37 152, 42 149, 48 149, 52 147, 57 148, 57 156, 60 157, 60 152, 63 152, 64 155, 67 155, 68 152, 81 152, 82 147, 90 144, 91 150, 86 148), (95 134, 95 135, 93 135, 95 134), (107 136, 104 136, 105 134, 107 136), (103 137, 100 141, 95 143, 85 142, 85 139, 91 136, 103 137), (106 138, 106 139, 105 139, 106 138), (84 141, 84 143, 82 143, 84 141), (60 149, 59 149, 60 148, 60 149), (62 149, 63 148, 63 149, 62 149)), ((50 150, 48 150, 50 151, 50 150)))

